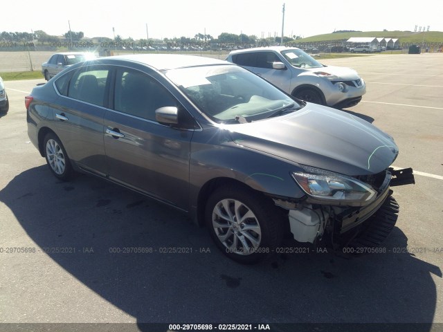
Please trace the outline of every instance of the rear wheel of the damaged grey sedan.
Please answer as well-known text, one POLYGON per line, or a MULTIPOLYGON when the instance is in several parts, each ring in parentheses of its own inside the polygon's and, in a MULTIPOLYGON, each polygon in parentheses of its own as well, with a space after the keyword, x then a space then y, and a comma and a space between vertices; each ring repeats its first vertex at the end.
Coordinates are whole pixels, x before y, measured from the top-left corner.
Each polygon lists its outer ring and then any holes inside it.
POLYGON ((46 163, 48 163, 51 172, 56 178, 68 181, 73 176, 71 160, 55 133, 46 134, 43 147, 46 163))

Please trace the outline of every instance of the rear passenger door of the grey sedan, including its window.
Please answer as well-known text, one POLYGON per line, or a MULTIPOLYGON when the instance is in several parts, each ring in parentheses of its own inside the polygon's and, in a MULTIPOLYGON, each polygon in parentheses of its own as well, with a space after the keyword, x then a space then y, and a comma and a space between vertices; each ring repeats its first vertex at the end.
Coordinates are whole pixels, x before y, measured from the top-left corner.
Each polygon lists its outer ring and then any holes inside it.
POLYGON ((53 118, 57 136, 69 158, 89 172, 105 175, 103 116, 107 107, 111 68, 84 66, 55 81, 60 107, 53 118))

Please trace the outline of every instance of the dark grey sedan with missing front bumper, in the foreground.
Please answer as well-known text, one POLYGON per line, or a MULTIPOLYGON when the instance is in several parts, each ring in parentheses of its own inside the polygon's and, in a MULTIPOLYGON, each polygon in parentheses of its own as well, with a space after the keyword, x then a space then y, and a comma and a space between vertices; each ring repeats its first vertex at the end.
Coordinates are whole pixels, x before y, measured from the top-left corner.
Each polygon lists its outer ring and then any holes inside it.
POLYGON ((397 145, 369 122, 218 59, 95 59, 25 102, 28 136, 55 177, 93 174, 187 212, 242 263, 279 252, 285 231, 316 246, 360 235, 376 246, 395 224, 390 186, 414 180, 390 168, 397 145))

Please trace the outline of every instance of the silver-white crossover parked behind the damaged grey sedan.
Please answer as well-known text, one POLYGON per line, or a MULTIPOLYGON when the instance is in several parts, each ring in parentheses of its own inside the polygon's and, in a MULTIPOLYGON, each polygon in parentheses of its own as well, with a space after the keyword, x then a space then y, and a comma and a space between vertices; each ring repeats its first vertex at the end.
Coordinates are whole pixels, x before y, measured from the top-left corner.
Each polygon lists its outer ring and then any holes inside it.
POLYGON ((365 82, 356 71, 324 66, 300 48, 273 46, 235 50, 226 60, 307 102, 338 109, 352 107, 366 92, 365 82))

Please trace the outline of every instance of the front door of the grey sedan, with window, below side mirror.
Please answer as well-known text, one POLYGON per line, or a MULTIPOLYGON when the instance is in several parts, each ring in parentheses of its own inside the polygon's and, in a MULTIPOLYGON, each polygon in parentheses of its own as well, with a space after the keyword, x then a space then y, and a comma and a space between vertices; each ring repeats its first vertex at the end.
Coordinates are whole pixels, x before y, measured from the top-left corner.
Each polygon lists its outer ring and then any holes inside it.
POLYGON ((193 129, 160 124, 155 110, 181 107, 154 77, 118 68, 114 107, 105 114, 107 170, 113 181, 188 209, 193 129))

